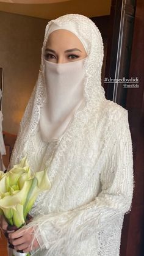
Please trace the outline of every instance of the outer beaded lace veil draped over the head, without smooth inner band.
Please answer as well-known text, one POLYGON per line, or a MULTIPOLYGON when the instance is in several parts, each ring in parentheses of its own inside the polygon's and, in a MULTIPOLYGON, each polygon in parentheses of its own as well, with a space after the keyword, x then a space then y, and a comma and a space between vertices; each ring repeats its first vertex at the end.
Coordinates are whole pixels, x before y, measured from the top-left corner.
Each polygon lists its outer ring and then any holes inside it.
MULTIPOLYGON (((45 103, 45 83, 44 83, 44 54, 46 42, 48 39, 49 27, 52 23, 58 24, 60 27, 70 26, 73 24, 73 32, 79 38, 87 42, 88 58, 85 62, 85 81, 84 81, 84 97, 85 103, 81 104, 79 109, 74 113, 73 119, 69 123, 67 130, 61 138, 65 145, 68 145, 68 140, 71 134, 73 136, 81 136, 82 128, 88 125, 90 115, 96 113, 99 104, 106 100, 104 89, 101 86, 101 67, 103 64, 103 40, 95 23, 89 18, 78 15, 68 14, 51 20, 48 22, 45 30, 45 38, 41 51, 41 65, 38 74, 38 79, 35 84, 32 96, 27 104, 23 119, 20 124, 20 131, 16 139, 13 149, 10 166, 18 163, 23 156, 27 156, 31 162, 31 152, 35 150, 35 145, 32 142, 32 137, 38 131, 38 122, 40 120, 41 107, 45 103)), ((23 96, 22 96, 23 97, 23 96)), ((96 116, 95 116, 96 123, 96 116)), ((60 142, 60 141, 59 141, 60 142)), ((61 142, 60 142, 61 143, 61 142)))

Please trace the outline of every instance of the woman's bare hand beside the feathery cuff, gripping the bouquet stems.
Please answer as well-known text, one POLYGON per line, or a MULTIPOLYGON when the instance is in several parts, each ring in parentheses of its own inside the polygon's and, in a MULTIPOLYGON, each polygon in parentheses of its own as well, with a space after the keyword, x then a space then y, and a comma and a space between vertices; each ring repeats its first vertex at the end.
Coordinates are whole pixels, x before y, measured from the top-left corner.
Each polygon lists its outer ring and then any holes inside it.
POLYGON ((13 233, 9 233, 9 242, 14 246, 16 251, 31 252, 40 247, 37 239, 34 239, 33 227, 19 229, 13 233))

